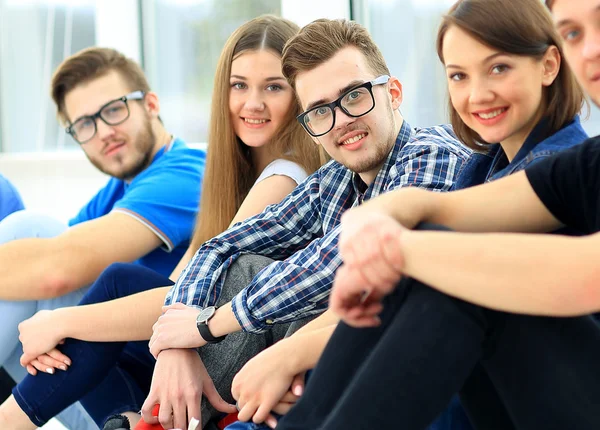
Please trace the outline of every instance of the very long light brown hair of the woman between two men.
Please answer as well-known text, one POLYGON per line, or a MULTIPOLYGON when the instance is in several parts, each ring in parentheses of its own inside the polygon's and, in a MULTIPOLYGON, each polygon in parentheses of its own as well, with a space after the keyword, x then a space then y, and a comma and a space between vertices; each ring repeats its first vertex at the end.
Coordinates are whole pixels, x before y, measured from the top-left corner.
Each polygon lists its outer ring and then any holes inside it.
MULTIPOLYGON (((215 73, 208 157, 200 213, 192 239, 195 249, 227 229, 260 173, 256 172, 247 148, 231 124, 231 63, 239 54, 250 50, 266 49, 281 57, 283 46, 298 30, 300 28, 287 19, 263 15, 239 27, 225 43, 215 73)), ((296 162, 312 173, 321 164, 319 149, 296 121, 299 114, 300 106, 293 102, 281 129, 269 143, 269 150, 274 158, 296 162)))

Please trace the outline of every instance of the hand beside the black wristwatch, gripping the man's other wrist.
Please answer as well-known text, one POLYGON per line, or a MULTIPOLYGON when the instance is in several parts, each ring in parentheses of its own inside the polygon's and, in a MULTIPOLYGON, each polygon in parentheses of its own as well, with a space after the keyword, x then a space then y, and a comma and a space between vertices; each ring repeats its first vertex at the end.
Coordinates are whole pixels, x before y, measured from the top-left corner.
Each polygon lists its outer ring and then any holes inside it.
POLYGON ((171 348, 197 348, 206 345, 196 327, 200 311, 183 303, 163 307, 163 314, 152 327, 150 353, 156 358, 171 348))

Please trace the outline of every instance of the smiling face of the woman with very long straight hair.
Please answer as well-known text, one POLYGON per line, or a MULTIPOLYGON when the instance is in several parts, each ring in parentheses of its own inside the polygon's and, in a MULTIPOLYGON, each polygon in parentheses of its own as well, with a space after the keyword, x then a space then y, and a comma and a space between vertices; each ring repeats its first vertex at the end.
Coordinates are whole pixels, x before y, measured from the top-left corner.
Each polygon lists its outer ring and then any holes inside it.
POLYGON ((231 62, 229 111, 235 134, 259 148, 281 129, 294 93, 281 74, 281 58, 272 51, 246 51, 231 62))

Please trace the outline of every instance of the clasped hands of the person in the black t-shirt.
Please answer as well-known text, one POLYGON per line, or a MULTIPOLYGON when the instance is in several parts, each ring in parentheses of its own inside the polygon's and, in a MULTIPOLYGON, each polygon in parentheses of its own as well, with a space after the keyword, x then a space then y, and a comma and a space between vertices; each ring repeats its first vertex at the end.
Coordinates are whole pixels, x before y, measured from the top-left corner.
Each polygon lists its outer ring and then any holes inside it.
POLYGON ((351 209, 342 216, 338 269, 330 309, 355 327, 379 324, 381 299, 402 276, 401 237, 406 229, 388 215, 351 209))

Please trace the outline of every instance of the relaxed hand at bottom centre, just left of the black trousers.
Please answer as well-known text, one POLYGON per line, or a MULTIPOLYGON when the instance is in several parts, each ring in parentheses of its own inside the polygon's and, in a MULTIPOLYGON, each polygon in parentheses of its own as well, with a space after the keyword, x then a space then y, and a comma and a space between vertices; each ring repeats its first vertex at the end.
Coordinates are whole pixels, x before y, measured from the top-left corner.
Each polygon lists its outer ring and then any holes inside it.
POLYGON ((231 393, 238 401, 241 421, 252 419, 274 427, 271 412, 287 413, 298 401, 304 388, 304 372, 298 372, 290 360, 290 351, 282 340, 248 361, 233 378, 231 393))

